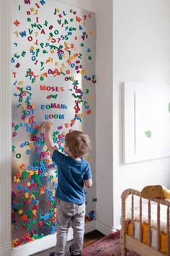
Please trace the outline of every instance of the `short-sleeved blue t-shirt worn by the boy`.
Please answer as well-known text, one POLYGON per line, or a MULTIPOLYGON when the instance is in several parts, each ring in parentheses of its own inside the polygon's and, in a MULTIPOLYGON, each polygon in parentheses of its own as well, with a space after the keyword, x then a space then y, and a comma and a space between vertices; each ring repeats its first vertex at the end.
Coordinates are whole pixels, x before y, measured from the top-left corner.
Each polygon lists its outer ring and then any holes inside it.
POLYGON ((87 161, 77 161, 58 150, 53 152, 53 162, 58 166, 56 196, 66 202, 85 202, 84 180, 91 179, 91 168, 87 161))

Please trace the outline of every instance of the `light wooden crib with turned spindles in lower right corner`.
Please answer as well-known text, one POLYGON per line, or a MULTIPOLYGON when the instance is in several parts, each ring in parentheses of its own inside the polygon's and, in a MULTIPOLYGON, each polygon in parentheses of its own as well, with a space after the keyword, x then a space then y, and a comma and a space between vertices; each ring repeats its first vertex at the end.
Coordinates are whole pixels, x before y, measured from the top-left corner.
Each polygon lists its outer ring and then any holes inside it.
POLYGON ((170 200, 154 198, 151 200, 145 200, 147 203, 148 209, 148 229, 147 229, 147 244, 143 243, 143 198, 140 195, 140 192, 135 189, 126 189, 122 192, 122 229, 120 234, 121 239, 121 255, 126 256, 127 250, 134 251, 138 253, 140 256, 170 256, 170 223, 169 223, 169 213, 170 213, 170 200), (128 197, 130 199, 130 220, 127 218, 127 204, 129 203, 128 197), (135 199, 135 200, 134 200, 135 199), (135 238, 135 216, 134 216, 134 208, 135 203, 138 201, 139 205, 139 238, 135 238), (151 247, 151 204, 156 204, 156 248, 151 247), (161 252, 161 228, 160 228, 160 207, 161 205, 166 205, 166 253, 161 252), (132 232, 128 234, 128 225, 131 223, 132 232))

